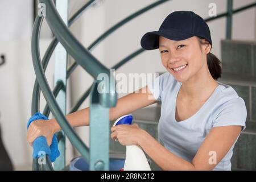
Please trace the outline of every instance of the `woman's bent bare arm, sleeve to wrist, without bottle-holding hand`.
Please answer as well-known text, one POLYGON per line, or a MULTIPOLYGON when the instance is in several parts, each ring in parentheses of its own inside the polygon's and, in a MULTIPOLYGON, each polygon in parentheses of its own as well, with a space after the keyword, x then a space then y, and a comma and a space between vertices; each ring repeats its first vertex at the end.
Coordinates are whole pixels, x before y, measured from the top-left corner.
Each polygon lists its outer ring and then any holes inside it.
POLYGON ((212 170, 233 146, 241 132, 241 127, 213 127, 191 163, 172 154, 145 131, 138 144, 163 170, 212 170))

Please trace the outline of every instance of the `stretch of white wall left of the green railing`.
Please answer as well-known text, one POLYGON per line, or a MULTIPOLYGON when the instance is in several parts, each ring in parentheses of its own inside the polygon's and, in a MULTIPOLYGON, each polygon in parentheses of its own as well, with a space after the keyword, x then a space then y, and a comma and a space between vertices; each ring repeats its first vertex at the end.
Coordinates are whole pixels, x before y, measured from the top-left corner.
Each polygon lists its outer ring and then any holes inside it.
MULTIPOLYGON (((0 1, 0 111, 3 142, 15 166, 28 159, 27 113, 31 103, 32 71, 30 43, 32 1, 0 1), (27 107, 27 109, 26 109, 27 107)), ((31 155, 30 155, 31 156, 31 155)))

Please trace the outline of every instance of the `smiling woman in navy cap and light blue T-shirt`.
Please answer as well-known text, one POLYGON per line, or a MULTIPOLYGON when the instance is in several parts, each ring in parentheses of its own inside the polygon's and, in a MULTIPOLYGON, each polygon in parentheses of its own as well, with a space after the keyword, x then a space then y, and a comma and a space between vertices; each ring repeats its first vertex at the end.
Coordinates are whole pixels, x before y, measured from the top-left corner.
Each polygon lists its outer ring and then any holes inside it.
MULTIPOLYGON (((112 139, 122 145, 137 144, 164 170, 230 170, 232 150, 245 129, 246 107, 229 85, 217 82, 220 60, 210 49, 207 23, 192 11, 175 11, 159 31, 141 39, 144 49, 159 49, 167 72, 154 82, 118 100, 110 120, 162 101, 158 125, 162 146, 138 125, 112 127, 112 139), (154 96, 154 99, 148 99, 154 96)), ((73 127, 89 125, 89 108, 67 115, 73 127), (84 117, 86 116, 86 117, 84 117)), ((28 130, 32 144, 40 135, 51 144, 60 130, 52 122, 36 121, 28 130)))

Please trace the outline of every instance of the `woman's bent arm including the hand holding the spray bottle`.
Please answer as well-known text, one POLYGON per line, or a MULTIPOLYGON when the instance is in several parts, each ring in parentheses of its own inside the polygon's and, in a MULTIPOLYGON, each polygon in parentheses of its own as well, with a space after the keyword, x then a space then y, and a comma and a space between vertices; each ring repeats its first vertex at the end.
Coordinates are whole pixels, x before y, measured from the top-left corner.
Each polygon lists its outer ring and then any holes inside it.
POLYGON ((212 170, 230 150, 241 126, 213 127, 201 144, 192 162, 172 154, 138 125, 112 127, 112 139, 117 138, 123 146, 138 144, 163 170, 212 170), (216 154, 216 155, 215 155, 216 154))

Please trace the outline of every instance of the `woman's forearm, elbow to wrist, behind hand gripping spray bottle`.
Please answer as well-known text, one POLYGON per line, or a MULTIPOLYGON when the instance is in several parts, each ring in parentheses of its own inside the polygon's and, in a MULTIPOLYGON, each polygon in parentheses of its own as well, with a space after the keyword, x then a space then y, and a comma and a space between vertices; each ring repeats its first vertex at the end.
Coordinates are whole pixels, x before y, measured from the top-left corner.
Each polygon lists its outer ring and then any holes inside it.
POLYGON ((192 163, 172 154, 146 131, 142 131, 142 137, 138 144, 163 170, 195 170, 192 163))

